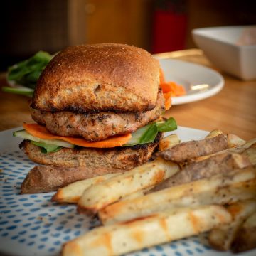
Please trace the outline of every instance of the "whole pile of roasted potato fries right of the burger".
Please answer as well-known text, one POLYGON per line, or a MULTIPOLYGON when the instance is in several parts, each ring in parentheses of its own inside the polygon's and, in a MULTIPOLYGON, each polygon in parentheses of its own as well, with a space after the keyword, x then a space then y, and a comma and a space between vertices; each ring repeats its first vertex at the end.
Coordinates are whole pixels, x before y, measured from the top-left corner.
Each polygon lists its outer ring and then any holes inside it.
POLYGON ((77 203, 80 213, 102 222, 66 242, 65 256, 122 255, 206 231, 216 250, 250 250, 256 247, 256 139, 214 130, 181 143, 172 134, 153 161, 72 183, 52 200, 77 203))

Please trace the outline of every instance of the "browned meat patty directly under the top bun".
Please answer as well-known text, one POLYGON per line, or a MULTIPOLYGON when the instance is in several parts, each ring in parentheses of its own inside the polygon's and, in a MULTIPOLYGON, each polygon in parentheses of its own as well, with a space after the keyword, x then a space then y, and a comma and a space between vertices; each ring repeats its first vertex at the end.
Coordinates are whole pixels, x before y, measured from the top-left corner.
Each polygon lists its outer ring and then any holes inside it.
POLYGON ((31 108, 32 118, 46 125, 53 134, 68 137, 84 137, 88 141, 98 141, 117 134, 134 132, 164 112, 164 97, 159 92, 156 107, 146 112, 99 112, 78 114, 74 112, 43 112, 31 108))

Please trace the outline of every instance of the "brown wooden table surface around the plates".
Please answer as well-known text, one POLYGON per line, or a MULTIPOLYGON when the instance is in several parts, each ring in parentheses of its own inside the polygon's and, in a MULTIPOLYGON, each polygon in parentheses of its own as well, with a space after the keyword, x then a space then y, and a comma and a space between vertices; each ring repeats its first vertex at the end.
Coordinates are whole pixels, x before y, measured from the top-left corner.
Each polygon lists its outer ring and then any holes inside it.
MULTIPOLYGON (((159 54, 214 68, 201 50, 189 49, 159 54)), ((220 70, 214 68, 218 72, 220 70)), ((242 81, 220 72, 225 86, 217 95, 198 102, 171 107, 166 117, 174 117, 178 125, 203 130, 221 129, 243 139, 256 137, 256 80, 242 81)), ((6 86, 6 74, 0 75, 0 87, 6 86)), ((0 90, 0 131, 33 122, 28 97, 0 90)))

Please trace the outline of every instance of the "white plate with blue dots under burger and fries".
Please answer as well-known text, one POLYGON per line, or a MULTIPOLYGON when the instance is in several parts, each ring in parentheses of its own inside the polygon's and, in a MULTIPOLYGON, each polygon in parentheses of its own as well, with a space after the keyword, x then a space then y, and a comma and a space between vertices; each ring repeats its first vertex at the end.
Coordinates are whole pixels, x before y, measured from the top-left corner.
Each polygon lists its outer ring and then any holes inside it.
MULTIPOLYGON (((3 253, 15 256, 59 255, 63 242, 82 235, 100 223, 76 213, 74 205, 58 205, 51 202, 53 193, 18 194, 23 178, 35 165, 18 149, 21 139, 11 136, 12 132, 18 129, 0 132, 0 169, 2 170, 0 173, 0 255, 3 253)), ((178 127, 178 130, 172 133, 177 133, 182 141, 203 139, 208 134, 205 131, 186 127, 178 127)), ((232 254, 212 250, 198 237, 192 237, 146 248, 129 255, 227 256, 232 254)), ((249 255, 256 255, 256 250, 240 254, 240 256, 249 255)))

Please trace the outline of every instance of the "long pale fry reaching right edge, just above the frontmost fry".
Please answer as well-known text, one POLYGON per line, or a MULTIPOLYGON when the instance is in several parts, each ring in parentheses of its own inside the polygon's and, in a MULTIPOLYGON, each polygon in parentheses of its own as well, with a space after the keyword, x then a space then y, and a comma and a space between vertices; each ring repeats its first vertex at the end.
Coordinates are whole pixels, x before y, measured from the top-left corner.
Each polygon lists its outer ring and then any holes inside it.
POLYGON ((171 208, 235 203, 255 196, 256 167, 253 166, 120 201, 100 210, 99 217, 108 225, 171 208))

